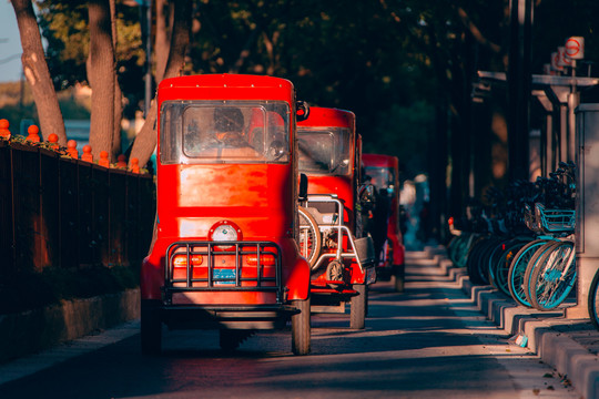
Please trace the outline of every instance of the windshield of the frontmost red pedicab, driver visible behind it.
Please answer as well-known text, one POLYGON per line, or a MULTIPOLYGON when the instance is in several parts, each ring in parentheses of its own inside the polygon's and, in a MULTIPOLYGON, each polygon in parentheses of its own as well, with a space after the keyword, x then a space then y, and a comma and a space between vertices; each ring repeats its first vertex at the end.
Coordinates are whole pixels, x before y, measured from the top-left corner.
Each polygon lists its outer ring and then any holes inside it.
POLYGON ((290 160, 286 102, 169 101, 160 115, 163 164, 290 160))

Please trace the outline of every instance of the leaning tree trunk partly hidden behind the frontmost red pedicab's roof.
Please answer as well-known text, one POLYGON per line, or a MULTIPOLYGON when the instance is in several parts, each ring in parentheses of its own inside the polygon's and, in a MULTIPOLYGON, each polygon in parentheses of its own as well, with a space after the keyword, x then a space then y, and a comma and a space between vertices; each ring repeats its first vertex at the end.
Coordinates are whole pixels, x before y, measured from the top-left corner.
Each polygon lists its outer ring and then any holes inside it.
MULTIPOLYGON (((190 0, 174 1, 174 23, 171 34, 171 49, 169 51, 169 60, 164 72, 164 79, 176 76, 181 73, 185 61, 185 50, 190 42, 191 28, 191 10, 192 2, 190 0)), ((135 137, 133 149, 131 149, 131 158, 136 157, 140 166, 144 166, 156 146, 156 100, 152 101, 150 112, 145 117, 140 133, 135 137)))

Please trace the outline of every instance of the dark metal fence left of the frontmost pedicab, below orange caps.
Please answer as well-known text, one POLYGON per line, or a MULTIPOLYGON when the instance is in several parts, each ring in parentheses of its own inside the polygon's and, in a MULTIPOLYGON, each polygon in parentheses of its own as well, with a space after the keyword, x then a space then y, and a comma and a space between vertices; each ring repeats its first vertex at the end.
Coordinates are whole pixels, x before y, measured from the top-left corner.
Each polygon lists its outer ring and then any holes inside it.
POLYGON ((154 213, 151 175, 0 141, 0 279, 48 266, 139 265, 154 213))

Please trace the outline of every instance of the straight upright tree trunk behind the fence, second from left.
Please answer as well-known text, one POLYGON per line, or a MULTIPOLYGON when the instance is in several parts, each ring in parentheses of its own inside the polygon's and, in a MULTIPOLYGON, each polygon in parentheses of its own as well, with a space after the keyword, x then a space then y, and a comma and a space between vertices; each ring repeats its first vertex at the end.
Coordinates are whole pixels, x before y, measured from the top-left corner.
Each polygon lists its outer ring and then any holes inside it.
POLYGON ((109 0, 90 0, 90 57, 92 111, 90 145, 94 160, 101 151, 112 154, 114 135, 114 50, 109 0))

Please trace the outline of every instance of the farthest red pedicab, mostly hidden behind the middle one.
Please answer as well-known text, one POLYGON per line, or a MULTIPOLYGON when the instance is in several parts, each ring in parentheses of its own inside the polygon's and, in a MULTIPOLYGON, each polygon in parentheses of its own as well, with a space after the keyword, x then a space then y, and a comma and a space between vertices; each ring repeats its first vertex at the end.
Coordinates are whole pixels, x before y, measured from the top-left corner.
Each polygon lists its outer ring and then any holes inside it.
POLYGON ((382 279, 393 279, 397 291, 404 290, 405 247, 400 231, 399 161, 396 156, 362 154, 365 180, 376 188, 372 236, 376 254, 376 272, 382 279))

